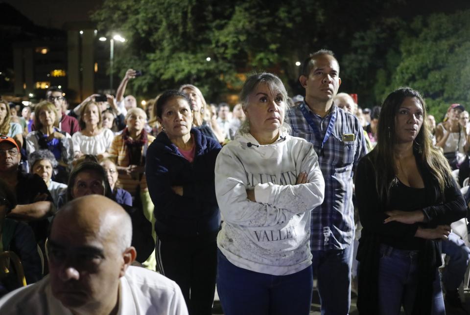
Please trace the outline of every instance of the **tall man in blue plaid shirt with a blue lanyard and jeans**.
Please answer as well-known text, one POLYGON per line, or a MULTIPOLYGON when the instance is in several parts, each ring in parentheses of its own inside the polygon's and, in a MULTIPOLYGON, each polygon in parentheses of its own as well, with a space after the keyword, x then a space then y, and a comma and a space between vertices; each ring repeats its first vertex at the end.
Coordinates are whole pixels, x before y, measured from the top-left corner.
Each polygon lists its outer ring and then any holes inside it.
POLYGON ((331 51, 311 54, 299 81, 305 88, 305 100, 288 112, 292 135, 315 146, 325 179, 325 201, 312 210, 311 217, 313 274, 322 314, 346 315, 351 304, 354 240, 352 174, 366 154, 364 135, 359 120, 333 103, 341 79, 331 51))

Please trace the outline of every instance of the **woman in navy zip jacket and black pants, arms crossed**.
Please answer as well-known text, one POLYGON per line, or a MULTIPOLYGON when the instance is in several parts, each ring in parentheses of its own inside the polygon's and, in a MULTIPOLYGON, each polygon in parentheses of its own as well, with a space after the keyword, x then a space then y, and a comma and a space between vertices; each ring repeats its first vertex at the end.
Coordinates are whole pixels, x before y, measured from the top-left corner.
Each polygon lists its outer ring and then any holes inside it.
POLYGON ((181 288, 189 314, 211 314, 220 212, 214 189, 216 140, 191 128, 193 113, 181 92, 157 101, 163 131, 148 147, 146 176, 155 205, 160 272, 181 288))

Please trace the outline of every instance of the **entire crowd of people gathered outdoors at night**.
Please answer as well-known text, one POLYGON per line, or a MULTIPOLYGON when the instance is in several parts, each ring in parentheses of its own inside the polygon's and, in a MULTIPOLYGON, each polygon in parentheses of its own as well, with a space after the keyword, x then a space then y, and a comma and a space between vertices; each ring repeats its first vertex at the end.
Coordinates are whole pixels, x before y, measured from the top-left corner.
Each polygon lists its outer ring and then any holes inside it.
POLYGON ((227 315, 301 315, 314 279, 322 314, 348 314, 352 290, 360 314, 459 306, 464 106, 436 126, 402 87, 362 109, 329 50, 305 59, 305 97, 257 73, 232 111, 192 84, 138 107, 136 74, 73 108, 55 86, 0 99, 0 252, 25 280, 0 263, 1 314, 206 315, 217 288, 227 315))

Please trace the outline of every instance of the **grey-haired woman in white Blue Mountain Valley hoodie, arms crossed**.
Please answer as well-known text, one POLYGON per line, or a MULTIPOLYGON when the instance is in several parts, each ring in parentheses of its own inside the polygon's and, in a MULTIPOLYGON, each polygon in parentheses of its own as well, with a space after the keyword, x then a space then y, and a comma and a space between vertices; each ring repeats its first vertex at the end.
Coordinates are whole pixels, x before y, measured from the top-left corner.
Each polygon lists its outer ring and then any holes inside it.
POLYGON ((288 134, 287 92, 277 76, 250 76, 240 99, 246 120, 215 164, 222 308, 227 315, 309 314, 310 211, 325 190, 317 155, 288 134))

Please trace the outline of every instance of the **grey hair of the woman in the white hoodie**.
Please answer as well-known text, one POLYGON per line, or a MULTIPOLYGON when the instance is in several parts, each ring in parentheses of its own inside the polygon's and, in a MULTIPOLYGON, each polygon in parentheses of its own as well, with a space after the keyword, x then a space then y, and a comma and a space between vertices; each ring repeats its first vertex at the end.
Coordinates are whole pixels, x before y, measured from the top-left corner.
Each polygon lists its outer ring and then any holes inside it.
MULTIPOLYGON (((268 72, 262 72, 255 73, 249 76, 248 79, 246 79, 245 84, 243 84, 243 87, 241 88, 241 107, 243 108, 243 110, 246 110, 248 108, 250 94, 253 93, 253 91, 257 88, 258 84, 265 84, 273 94, 282 95, 282 100, 284 104, 284 122, 281 126, 281 132, 289 133, 291 128, 286 121, 287 116, 285 115, 287 110, 289 109, 287 105, 287 91, 285 90, 284 84, 282 83, 281 79, 277 75, 268 72)), ((250 133, 250 121, 248 117, 241 124, 240 128, 238 129, 238 133, 250 133)))

